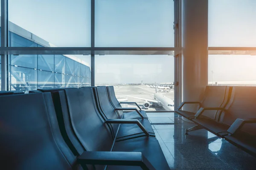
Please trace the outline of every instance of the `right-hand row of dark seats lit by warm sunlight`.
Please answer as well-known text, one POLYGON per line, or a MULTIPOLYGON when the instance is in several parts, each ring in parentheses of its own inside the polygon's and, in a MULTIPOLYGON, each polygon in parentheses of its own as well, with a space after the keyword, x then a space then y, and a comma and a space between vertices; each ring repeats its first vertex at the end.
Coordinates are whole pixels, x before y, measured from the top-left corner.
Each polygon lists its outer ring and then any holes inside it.
POLYGON ((183 102, 176 113, 226 139, 256 156, 256 87, 207 86, 201 102, 183 102), (184 105, 198 104, 197 112, 181 110, 184 105))

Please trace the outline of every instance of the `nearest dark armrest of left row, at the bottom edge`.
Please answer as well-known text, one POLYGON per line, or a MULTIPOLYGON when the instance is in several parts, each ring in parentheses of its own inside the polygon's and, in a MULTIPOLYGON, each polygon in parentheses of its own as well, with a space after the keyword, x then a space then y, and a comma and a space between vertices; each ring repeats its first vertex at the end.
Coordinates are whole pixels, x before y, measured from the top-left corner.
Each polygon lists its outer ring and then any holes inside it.
POLYGON ((140 166, 143 170, 155 170, 141 152, 84 151, 77 161, 79 164, 140 166))

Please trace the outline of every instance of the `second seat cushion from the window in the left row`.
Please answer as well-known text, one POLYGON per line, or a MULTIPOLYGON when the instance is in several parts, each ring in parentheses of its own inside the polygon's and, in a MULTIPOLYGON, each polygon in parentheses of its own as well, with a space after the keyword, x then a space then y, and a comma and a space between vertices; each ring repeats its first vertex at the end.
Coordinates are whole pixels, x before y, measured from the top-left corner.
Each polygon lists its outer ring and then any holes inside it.
MULTIPOLYGON (((148 133, 151 136, 155 136, 154 130, 148 119, 139 119, 139 121, 145 127, 145 129, 148 130, 148 133)), ((116 136, 116 140, 120 141, 139 136, 145 136, 145 133, 140 129, 137 124, 121 124, 116 136)))

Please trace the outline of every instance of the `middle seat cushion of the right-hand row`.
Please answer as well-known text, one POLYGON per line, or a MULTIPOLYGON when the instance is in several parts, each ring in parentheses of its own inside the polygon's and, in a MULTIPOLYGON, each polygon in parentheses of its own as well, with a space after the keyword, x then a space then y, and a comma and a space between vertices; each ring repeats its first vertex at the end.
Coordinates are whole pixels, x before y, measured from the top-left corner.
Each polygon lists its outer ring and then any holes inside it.
MULTIPOLYGON (((192 121, 198 125, 202 125, 206 130, 214 133, 217 136, 220 136, 220 134, 217 133, 225 132, 229 128, 227 125, 215 122, 214 120, 205 118, 204 116, 192 119, 192 121)), ((223 135, 223 133, 221 134, 223 135)))

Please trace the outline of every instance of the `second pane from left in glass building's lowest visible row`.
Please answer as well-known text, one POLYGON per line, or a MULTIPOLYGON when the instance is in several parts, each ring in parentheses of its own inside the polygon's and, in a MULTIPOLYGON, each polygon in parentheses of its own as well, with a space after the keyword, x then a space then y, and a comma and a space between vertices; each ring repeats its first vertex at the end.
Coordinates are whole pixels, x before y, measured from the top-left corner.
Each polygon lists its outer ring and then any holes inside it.
POLYGON ((54 73, 38 70, 38 88, 54 88, 54 73))

